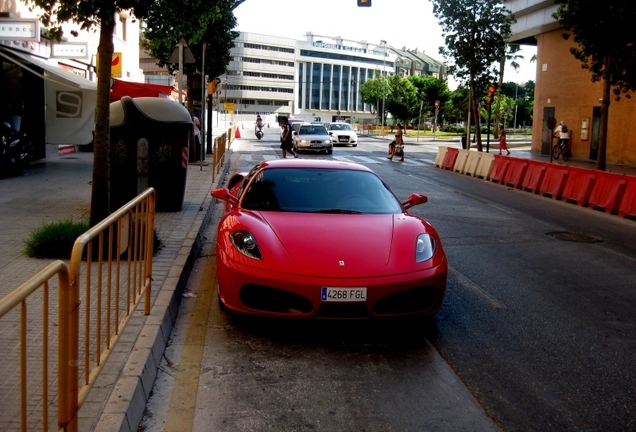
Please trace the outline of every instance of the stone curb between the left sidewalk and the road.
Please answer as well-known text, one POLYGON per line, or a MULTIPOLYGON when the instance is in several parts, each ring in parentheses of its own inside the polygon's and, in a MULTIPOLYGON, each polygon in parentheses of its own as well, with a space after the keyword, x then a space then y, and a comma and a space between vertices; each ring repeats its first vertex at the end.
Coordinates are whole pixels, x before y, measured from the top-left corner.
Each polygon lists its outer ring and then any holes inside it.
MULTIPOLYGON (((219 175, 218 187, 230 168, 231 150, 219 175)), ((205 241, 204 232, 214 216, 214 198, 209 194, 204 199, 190 231, 172 264, 170 271, 159 289, 149 316, 145 317, 142 329, 121 374, 104 405, 93 431, 96 432, 137 432, 144 415, 146 403, 157 377, 172 328, 177 319, 183 291, 190 273, 205 241)), ((143 319, 143 311, 135 311, 143 319), (139 315, 140 314, 140 315, 139 315)))

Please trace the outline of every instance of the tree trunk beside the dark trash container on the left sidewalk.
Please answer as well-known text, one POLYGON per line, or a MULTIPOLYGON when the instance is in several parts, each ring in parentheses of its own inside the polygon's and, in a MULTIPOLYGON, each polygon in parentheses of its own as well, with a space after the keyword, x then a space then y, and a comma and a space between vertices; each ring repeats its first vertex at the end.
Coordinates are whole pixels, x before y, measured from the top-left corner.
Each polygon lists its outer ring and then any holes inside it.
POLYGON ((90 226, 110 214, 110 78, 113 59, 113 16, 101 20, 98 48, 97 101, 93 138, 93 182, 90 226))

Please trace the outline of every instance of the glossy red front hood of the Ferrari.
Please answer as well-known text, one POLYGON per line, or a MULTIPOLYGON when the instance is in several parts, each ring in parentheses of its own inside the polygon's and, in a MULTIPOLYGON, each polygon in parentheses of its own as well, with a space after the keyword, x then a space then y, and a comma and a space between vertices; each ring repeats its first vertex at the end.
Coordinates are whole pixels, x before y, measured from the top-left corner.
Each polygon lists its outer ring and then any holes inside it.
POLYGON ((299 266, 378 269, 389 262, 395 215, 262 214, 299 266), (335 228, 337 227, 337 229, 335 228))

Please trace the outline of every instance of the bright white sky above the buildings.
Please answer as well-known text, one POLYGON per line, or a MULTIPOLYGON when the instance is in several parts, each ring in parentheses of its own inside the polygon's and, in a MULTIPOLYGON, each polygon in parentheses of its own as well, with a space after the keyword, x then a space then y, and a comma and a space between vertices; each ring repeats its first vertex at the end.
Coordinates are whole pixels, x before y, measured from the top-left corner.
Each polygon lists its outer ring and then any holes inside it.
MULTIPOLYGON (((439 60, 444 45, 442 30, 428 0, 372 0, 371 7, 358 7, 357 0, 246 0, 234 10, 235 30, 305 40, 305 34, 341 36, 396 48, 417 48, 439 60)), ((346 41, 345 41, 346 44, 346 41)), ((504 81, 536 81, 536 63, 530 58, 535 47, 523 48, 519 71, 507 67, 504 81)), ((449 87, 456 83, 449 79, 449 87)))

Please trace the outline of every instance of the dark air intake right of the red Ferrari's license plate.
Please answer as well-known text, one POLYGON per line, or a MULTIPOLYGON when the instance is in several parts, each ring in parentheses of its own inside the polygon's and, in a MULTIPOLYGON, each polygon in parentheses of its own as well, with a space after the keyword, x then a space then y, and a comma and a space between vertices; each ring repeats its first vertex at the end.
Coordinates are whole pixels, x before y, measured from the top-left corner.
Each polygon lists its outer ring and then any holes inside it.
POLYGON ((437 297, 435 287, 411 288, 381 298, 373 305, 373 311, 378 315, 434 312, 439 308, 437 297))

